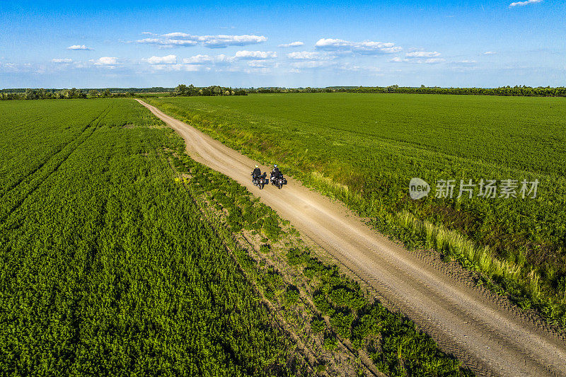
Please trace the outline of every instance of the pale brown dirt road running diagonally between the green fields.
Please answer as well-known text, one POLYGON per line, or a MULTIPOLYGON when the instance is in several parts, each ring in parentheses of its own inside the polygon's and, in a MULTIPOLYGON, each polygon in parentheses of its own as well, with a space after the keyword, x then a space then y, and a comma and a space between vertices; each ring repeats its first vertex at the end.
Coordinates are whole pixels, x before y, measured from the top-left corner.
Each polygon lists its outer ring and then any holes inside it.
MULTIPOLYGON (((371 230, 342 204, 289 178, 282 190, 252 185, 255 161, 139 100, 186 141, 187 152, 245 186, 302 235, 364 277, 441 347, 487 376, 566 376, 566 343, 371 230)), ((262 170, 267 170, 262 166, 262 170)))

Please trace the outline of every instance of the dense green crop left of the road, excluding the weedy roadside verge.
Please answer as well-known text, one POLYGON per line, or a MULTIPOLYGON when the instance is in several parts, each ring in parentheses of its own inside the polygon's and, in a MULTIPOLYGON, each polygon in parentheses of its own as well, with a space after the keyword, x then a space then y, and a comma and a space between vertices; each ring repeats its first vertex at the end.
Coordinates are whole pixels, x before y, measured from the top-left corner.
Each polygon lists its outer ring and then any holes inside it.
POLYGON ((0 371, 288 375, 294 344, 133 100, 0 105, 0 371))

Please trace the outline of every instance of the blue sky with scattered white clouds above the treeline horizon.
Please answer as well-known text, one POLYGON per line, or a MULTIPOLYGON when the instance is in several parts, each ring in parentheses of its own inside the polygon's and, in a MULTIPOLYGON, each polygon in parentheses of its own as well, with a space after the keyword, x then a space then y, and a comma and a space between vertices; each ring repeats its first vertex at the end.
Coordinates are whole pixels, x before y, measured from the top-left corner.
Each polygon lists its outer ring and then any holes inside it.
POLYGON ((566 2, 513 1, 4 0, 0 88, 565 86, 566 2))

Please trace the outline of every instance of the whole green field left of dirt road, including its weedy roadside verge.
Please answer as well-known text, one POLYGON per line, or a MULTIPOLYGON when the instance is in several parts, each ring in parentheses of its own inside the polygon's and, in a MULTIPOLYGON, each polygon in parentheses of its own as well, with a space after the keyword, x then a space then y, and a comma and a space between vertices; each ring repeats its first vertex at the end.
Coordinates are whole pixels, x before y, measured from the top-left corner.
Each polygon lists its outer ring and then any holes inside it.
POLYGON ((363 349, 395 376, 470 375, 336 266, 291 248, 274 211, 188 158, 134 100, 6 101, 0 119, 2 374, 340 375, 349 340, 352 371, 363 349), (243 229, 292 273, 239 248, 243 229))

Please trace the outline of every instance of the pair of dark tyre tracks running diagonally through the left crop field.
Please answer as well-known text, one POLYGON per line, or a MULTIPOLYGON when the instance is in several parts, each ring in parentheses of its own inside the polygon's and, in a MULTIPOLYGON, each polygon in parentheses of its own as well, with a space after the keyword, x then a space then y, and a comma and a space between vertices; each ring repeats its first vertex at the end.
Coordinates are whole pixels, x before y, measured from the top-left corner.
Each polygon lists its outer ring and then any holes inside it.
POLYGON ((0 207, 0 221, 3 222, 3 226, 6 226, 7 220, 10 216, 25 202, 25 199, 33 195, 41 185, 50 178, 51 175, 59 170, 59 167, 67 161, 69 156, 79 149, 79 147, 87 141, 92 134, 98 128, 98 124, 108 115, 111 110, 111 105, 105 108, 100 115, 92 120, 86 127, 83 128, 79 137, 69 141, 65 144, 59 151, 57 151, 53 156, 40 164, 35 170, 30 174, 22 178, 14 187, 12 187, 8 192, 6 192, 1 197, 1 207, 0 207), (45 167, 45 168, 44 168, 45 167), (22 190, 19 190, 21 185, 26 185, 22 190))

